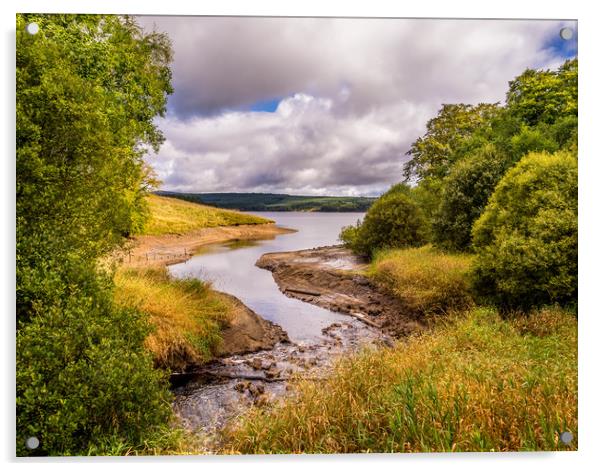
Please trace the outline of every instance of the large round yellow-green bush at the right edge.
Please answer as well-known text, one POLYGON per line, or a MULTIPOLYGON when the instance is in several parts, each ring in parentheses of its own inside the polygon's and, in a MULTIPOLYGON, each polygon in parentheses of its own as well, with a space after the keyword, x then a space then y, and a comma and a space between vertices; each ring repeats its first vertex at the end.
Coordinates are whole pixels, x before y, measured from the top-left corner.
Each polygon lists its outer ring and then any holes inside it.
POLYGON ((577 299, 577 158, 532 153, 500 181, 473 229, 473 284, 504 308, 577 299))

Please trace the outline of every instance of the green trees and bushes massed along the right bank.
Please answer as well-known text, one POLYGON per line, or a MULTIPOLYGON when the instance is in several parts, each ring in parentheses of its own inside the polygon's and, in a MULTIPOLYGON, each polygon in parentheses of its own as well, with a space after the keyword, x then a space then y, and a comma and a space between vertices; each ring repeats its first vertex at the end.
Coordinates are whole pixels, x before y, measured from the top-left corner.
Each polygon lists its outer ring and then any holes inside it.
POLYGON ((473 253, 475 293, 504 309, 576 303, 577 75, 567 60, 523 72, 503 105, 443 105, 343 242, 473 253))

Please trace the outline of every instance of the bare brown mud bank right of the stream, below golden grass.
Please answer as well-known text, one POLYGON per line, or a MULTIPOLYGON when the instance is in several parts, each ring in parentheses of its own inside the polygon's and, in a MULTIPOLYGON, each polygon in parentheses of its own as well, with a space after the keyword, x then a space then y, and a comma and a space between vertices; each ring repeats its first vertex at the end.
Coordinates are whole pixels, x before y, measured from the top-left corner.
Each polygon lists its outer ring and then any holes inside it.
POLYGON ((343 246, 267 253, 257 266, 272 272, 286 296, 349 314, 393 337, 424 329, 420 318, 362 274, 366 261, 343 246))

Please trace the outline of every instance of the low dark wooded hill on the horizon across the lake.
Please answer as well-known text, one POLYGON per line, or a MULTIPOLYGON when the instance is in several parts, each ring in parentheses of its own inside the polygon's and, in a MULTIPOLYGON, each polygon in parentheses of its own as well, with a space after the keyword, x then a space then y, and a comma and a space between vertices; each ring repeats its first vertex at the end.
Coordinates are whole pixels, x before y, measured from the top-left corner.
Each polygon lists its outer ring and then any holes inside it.
POLYGON ((297 196, 274 193, 178 193, 158 195, 240 211, 364 212, 376 200, 363 196, 297 196))

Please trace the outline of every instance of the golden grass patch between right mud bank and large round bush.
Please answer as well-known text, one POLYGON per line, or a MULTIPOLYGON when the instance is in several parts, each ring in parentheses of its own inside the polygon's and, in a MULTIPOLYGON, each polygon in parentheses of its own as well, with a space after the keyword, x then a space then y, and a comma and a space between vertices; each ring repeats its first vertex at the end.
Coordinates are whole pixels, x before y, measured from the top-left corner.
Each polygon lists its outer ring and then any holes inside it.
POLYGON ((408 311, 442 314, 472 306, 468 272, 472 257, 431 246, 377 253, 369 276, 398 297, 408 311))

